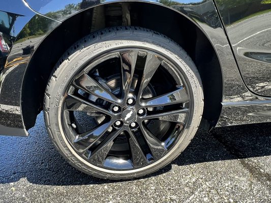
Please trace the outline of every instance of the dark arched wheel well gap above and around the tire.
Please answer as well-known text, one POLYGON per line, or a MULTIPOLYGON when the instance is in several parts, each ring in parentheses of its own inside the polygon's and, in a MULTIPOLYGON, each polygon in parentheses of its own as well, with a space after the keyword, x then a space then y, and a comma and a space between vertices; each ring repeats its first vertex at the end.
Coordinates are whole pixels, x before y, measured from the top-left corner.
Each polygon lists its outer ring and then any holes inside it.
POLYGON ((203 123, 208 124, 204 124, 206 128, 215 126, 221 112, 223 85, 219 59, 212 44, 185 16, 160 5, 129 2, 104 4, 82 11, 65 20, 44 39, 29 61, 23 79, 21 106, 26 129, 35 125, 43 107, 47 81, 62 54, 89 33, 117 25, 158 31, 186 50, 203 83, 203 118, 208 121, 203 123))

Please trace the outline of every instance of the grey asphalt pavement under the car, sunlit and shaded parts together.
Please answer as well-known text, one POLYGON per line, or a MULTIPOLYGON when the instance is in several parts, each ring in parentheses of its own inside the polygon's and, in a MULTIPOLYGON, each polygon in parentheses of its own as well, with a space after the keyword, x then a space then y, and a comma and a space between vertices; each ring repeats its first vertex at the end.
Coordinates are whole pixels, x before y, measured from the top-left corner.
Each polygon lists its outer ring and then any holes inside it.
POLYGON ((109 181, 85 175, 54 150, 43 114, 31 136, 0 136, 0 202, 271 202, 270 123, 199 130, 153 175, 109 181))

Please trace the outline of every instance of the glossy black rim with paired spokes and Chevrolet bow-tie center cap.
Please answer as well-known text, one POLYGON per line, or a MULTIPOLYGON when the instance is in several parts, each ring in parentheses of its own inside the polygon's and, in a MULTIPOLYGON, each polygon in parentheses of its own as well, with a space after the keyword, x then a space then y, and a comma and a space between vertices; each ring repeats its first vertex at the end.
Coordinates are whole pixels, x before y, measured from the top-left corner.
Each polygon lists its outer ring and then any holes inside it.
POLYGON ((79 156, 98 167, 151 165, 186 128, 192 109, 188 89, 185 75, 166 56, 136 48, 112 51, 89 62, 67 87, 64 134, 79 156))

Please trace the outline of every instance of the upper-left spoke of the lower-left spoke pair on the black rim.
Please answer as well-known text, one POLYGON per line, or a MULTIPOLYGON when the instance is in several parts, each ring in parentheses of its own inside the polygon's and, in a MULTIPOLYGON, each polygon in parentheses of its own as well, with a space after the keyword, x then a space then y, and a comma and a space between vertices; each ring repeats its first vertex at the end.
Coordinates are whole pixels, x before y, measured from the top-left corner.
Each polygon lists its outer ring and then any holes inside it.
POLYGON ((75 144, 77 144, 78 151, 84 152, 90 148, 99 138, 103 136, 111 125, 112 121, 105 122, 92 130, 78 134, 73 141, 75 144))

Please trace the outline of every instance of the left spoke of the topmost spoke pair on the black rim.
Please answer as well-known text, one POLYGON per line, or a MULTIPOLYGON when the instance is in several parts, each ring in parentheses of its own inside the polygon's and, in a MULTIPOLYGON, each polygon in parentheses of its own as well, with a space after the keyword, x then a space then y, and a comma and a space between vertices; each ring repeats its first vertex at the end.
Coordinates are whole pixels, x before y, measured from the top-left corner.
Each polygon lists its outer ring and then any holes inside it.
POLYGON ((132 84, 135 64, 137 59, 137 51, 129 51, 125 53, 120 53, 121 63, 122 63, 122 94, 123 98, 126 100, 130 92, 130 87, 132 84))

